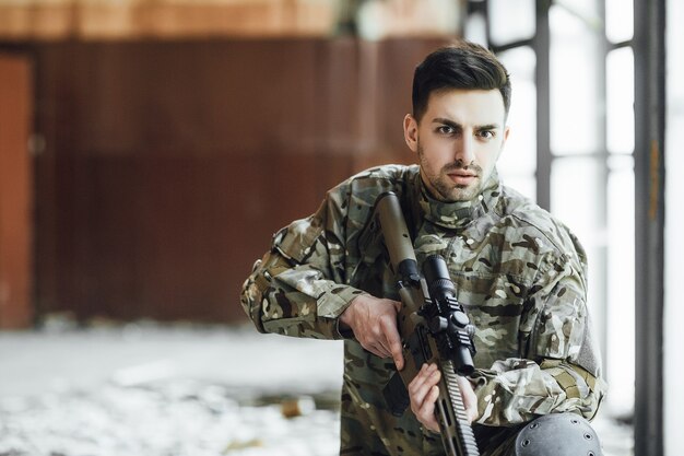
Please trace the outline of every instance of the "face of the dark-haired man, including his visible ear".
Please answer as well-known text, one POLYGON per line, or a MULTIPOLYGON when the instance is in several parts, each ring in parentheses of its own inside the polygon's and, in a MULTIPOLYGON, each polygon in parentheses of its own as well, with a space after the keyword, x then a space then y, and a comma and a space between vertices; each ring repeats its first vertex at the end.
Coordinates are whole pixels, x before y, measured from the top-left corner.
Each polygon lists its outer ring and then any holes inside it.
POLYGON ((482 191, 508 138, 505 122, 498 90, 433 92, 420 122, 406 115, 406 144, 433 197, 467 201, 482 191))

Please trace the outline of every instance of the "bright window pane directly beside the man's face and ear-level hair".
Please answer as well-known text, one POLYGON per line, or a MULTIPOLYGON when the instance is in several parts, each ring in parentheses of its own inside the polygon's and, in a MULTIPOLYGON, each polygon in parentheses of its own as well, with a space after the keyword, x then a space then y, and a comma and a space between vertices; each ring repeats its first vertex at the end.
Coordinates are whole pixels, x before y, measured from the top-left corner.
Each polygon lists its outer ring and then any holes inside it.
POLYGON ((498 162, 502 179, 524 196, 536 197, 536 58, 530 47, 499 54, 510 73, 512 96, 508 126, 510 136, 498 162))

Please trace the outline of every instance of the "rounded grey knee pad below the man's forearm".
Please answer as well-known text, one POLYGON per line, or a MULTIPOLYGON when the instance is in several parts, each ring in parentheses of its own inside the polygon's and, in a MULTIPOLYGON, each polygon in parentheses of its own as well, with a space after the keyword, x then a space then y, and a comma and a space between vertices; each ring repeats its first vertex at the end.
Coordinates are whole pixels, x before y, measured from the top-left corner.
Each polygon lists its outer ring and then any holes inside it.
POLYGON ((551 413, 529 422, 516 439, 516 456, 602 456, 589 421, 575 413, 551 413))

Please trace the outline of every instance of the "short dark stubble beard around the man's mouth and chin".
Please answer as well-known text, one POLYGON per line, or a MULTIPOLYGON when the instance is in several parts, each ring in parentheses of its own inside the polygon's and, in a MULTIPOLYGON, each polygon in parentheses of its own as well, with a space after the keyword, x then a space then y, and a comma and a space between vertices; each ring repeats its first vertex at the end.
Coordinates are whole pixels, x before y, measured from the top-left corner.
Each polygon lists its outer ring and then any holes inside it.
POLYGON ((427 160, 423 153, 423 148, 417 144, 418 161, 423 178, 433 194, 433 197, 445 202, 470 201, 482 191, 482 167, 474 163, 463 164, 461 160, 449 163, 439 169, 439 174, 429 174, 427 172, 427 160), (455 171, 469 171, 476 175, 470 185, 459 185, 451 180, 448 173, 455 171))

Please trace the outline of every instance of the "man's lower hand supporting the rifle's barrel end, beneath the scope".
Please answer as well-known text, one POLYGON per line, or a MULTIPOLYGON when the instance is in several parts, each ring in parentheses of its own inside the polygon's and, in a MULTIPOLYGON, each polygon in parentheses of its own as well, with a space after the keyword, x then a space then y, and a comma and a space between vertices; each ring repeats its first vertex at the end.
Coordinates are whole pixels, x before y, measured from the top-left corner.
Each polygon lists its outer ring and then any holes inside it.
MULTIPOLYGON (((415 378, 409 384, 411 411, 413 411, 421 424, 433 432, 439 432, 439 424, 435 418, 435 402, 439 397, 437 384, 440 377, 441 373, 436 364, 423 364, 415 378)), ((457 381, 461 389, 465 416, 470 423, 477 419, 479 416, 477 396, 467 378, 457 375, 457 381)))

